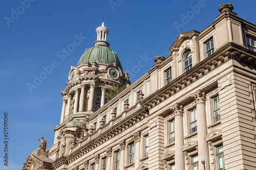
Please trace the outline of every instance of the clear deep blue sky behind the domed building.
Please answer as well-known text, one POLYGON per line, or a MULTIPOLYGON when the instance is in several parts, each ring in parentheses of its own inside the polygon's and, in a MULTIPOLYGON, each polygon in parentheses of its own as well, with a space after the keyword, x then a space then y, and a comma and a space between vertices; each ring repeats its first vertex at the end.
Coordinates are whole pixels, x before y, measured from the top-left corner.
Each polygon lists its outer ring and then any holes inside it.
POLYGON ((62 107, 60 90, 65 90, 70 66, 76 66, 85 48, 96 41, 102 18, 110 30, 108 42, 134 82, 151 69, 155 56, 168 55, 179 33, 202 31, 220 13, 219 5, 229 2, 241 18, 256 23, 255 1, 1 1, 0 166, 5 166, 5 112, 8 167, 23 167, 38 147, 37 138, 44 136, 47 148, 53 144, 62 107), (77 37, 80 43, 74 45, 77 37), (138 67, 140 60, 145 64, 138 67), (44 73, 49 66, 52 70, 44 73))

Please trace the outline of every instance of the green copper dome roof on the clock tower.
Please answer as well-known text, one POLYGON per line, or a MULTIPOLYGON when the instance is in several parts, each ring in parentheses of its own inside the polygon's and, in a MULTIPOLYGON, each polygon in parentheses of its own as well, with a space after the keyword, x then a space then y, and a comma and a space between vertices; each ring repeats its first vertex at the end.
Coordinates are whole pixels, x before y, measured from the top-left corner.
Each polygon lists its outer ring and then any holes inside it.
POLYGON ((122 65, 119 61, 119 58, 117 56, 117 53, 111 50, 111 47, 103 46, 103 45, 95 45, 89 49, 86 49, 86 52, 84 52, 83 55, 80 57, 76 67, 86 64, 87 61, 92 63, 94 60, 98 64, 109 65, 109 64, 116 63, 116 65, 121 70, 123 70, 122 65))

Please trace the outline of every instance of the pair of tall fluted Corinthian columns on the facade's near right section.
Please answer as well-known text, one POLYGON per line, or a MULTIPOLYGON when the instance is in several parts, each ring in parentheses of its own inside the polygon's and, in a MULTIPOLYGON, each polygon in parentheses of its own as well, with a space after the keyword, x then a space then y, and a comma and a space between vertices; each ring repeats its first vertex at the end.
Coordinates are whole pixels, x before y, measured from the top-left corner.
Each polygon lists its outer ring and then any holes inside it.
MULTIPOLYGON (((205 92, 197 90, 191 95, 195 99, 197 107, 197 135, 198 135, 198 160, 199 169, 209 170, 209 156, 208 146, 205 136, 207 135, 207 123, 206 123, 206 112, 205 112, 205 92), (205 160, 205 165, 201 163, 205 160), (204 168, 205 166, 205 168, 204 168)), ((183 105, 176 103, 172 110, 175 115, 175 168, 177 170, 184 170, 184 153, 181 147, 184 145, 183 136, 183 105)))

